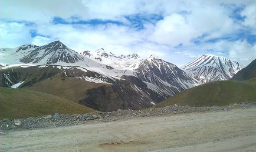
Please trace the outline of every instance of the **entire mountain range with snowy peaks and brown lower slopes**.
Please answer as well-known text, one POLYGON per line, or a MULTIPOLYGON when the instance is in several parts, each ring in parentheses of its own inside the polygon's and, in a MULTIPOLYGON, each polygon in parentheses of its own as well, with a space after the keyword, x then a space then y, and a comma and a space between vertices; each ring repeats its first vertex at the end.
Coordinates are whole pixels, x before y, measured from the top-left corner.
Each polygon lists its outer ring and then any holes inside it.
POLYGON ((77 53, 60 41, 0 49, 0 86, 53 94, 96 110, 143 109, 202 83, 231 79, 238 62, 203 55, 178 66, 151 55, 77 53))

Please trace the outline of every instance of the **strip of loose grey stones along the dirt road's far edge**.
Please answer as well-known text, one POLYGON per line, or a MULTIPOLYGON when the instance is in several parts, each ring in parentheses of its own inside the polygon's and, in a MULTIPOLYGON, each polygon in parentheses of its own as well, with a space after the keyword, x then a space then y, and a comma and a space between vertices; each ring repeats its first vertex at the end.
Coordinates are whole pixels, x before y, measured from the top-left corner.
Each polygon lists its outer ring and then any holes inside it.
POLYGON ((32 130, 49 127, 61 127, 77 124, 110 122, 116 120, 129 120, 134 117, 168 116, 180 113, 204 113, 204 112, 228 112, 234 109, 247 109, 255 107, 256 103, 239 103, 228 106, 166 106, 163 108, 150 108, 145 110, 117 110, 114 112, 93 112, 86 114, 52 114, 41 117, 29 117, 27 119, 3 119, 0 120, 0 131, 32 130))

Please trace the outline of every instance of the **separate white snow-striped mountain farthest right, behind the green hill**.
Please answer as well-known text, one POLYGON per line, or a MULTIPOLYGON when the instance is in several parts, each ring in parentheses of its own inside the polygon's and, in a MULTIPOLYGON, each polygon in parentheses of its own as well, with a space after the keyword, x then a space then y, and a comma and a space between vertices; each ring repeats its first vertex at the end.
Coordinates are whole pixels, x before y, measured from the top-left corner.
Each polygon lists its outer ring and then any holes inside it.
POLYGON ((180 69, 184 70, 196 80, 206 83, 229 80, 242 68, 244 66, 238 62, 224 58, 223 56, 205 54, 182 66, 180 69))

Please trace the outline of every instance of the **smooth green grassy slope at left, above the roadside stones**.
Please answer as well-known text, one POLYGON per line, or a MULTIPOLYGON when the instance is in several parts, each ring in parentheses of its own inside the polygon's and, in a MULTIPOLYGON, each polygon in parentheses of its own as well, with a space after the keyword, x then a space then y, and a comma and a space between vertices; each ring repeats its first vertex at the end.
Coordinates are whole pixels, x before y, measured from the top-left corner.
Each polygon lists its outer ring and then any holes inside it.
POLYGON ((93 112, 80 104, 51 94, 0 87, 0 119, 36 117, 45 114, 93 112))

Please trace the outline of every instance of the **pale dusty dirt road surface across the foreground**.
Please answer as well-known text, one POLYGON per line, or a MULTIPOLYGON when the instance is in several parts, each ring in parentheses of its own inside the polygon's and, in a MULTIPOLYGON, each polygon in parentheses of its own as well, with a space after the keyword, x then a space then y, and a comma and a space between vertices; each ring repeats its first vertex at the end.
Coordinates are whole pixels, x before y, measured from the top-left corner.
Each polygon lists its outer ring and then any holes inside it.
POLYGON ((139 117, 0 134, 0 151, 255 151, 256 109, 139 117))

